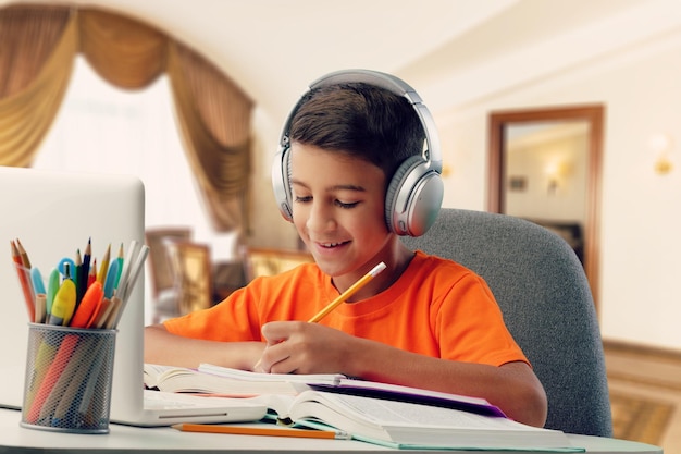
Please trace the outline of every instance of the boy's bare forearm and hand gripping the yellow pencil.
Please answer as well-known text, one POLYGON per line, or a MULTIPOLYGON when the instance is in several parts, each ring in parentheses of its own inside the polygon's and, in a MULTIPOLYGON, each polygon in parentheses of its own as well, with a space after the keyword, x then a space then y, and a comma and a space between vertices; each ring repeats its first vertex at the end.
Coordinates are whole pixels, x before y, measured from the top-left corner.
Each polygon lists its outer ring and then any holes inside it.
POLYGON ((486 398, 508 417, 543 426, 544 388, 525 363, 490 366, 433 358, 306 322, 267 323, 259 371, 342 372, 380 381, 486 398))

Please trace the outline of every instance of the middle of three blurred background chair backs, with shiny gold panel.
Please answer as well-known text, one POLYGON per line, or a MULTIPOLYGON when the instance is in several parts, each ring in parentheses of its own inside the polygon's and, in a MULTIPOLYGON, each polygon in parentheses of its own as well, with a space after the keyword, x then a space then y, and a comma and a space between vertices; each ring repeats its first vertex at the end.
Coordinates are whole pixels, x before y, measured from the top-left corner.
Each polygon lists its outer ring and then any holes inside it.
POLYGON ((170 248, 176 279, 177 315, 211 307, 214 302, 210 246, 176 241, 170 248))

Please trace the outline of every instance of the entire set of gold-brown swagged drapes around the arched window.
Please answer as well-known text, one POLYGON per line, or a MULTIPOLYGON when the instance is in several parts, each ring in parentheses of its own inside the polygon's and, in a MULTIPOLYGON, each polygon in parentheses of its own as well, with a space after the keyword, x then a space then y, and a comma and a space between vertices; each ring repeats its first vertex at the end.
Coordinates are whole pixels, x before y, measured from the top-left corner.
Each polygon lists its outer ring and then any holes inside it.
POLYGON ((92 8, 0 9, 0 165, 30 165, 76 52, 124 89, 144 88, 166 72, 213 228, 247 230, 252 101, 205 58, 148 24, 92 8))

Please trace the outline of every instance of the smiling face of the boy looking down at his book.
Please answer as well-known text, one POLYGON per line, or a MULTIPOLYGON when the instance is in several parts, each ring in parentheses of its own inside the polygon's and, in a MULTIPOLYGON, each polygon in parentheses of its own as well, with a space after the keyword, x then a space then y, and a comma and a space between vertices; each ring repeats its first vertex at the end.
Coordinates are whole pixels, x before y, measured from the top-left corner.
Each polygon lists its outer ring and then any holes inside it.
POLYGON ((292 144, 293 220, 322 271, 355 279, 379 261, 385 225, 383 171, 364 160, 292 144))

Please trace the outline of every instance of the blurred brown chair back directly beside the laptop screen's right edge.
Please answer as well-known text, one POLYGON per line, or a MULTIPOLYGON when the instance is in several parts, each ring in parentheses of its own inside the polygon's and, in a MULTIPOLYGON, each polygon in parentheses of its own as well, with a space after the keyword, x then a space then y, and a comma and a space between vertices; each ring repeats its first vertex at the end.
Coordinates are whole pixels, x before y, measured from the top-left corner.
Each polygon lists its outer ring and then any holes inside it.
POLYGON ((175 286, 175 277, 170 265, 169 244, 190 238, 191 229, 185 226, 153 228, 145 231, 145 240, 149 246, 149 270, 154 298, 161 292, 175 286))

